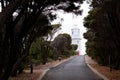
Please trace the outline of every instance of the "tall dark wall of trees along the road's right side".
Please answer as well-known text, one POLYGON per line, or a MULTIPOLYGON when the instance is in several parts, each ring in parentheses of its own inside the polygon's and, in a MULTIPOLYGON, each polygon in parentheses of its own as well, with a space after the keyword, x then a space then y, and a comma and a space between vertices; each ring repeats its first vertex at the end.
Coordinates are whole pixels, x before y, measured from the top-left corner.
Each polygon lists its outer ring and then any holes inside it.
POLYGON ((92 9, 84 18, 87 54, 114 69, 120 69, 119 3, 119 0, 92 0, 92 9))

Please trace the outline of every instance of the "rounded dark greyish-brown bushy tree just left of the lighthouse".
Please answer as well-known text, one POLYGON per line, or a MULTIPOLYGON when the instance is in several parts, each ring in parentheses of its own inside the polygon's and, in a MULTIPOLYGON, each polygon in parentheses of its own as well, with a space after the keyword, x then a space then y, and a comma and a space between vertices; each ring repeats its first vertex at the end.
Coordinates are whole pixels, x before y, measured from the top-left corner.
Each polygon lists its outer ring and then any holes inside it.
POLYGON ((67 55, 65 51, 71 49, 71 37, 69 34, 59 34, 51 43, 54 50, 55 59, 60 55, 67 55))

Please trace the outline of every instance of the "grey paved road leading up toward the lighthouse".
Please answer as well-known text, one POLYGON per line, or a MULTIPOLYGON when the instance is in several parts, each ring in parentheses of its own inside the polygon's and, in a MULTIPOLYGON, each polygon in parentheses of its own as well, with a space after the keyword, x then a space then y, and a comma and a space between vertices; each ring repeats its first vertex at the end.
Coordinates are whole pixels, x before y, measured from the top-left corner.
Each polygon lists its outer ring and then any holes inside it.
POLYGON ((75 56, 51 68, 42 80, 103 80, 93 73, 86 65, 84 56, 75 56))

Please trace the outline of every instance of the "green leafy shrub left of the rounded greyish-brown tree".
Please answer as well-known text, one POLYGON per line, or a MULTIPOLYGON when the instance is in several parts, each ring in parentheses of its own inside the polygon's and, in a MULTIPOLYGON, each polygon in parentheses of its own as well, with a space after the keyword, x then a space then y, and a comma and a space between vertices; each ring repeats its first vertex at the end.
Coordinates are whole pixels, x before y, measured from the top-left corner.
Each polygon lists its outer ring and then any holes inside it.
POLYGON ((48 57, 53 57, 53 51, 49 46, 49 42, 45 41, 42 37, 37 38, 31 45, 30 59, 35 63, 40 64, 44 62, 44 60, 46 63, 48 57))

